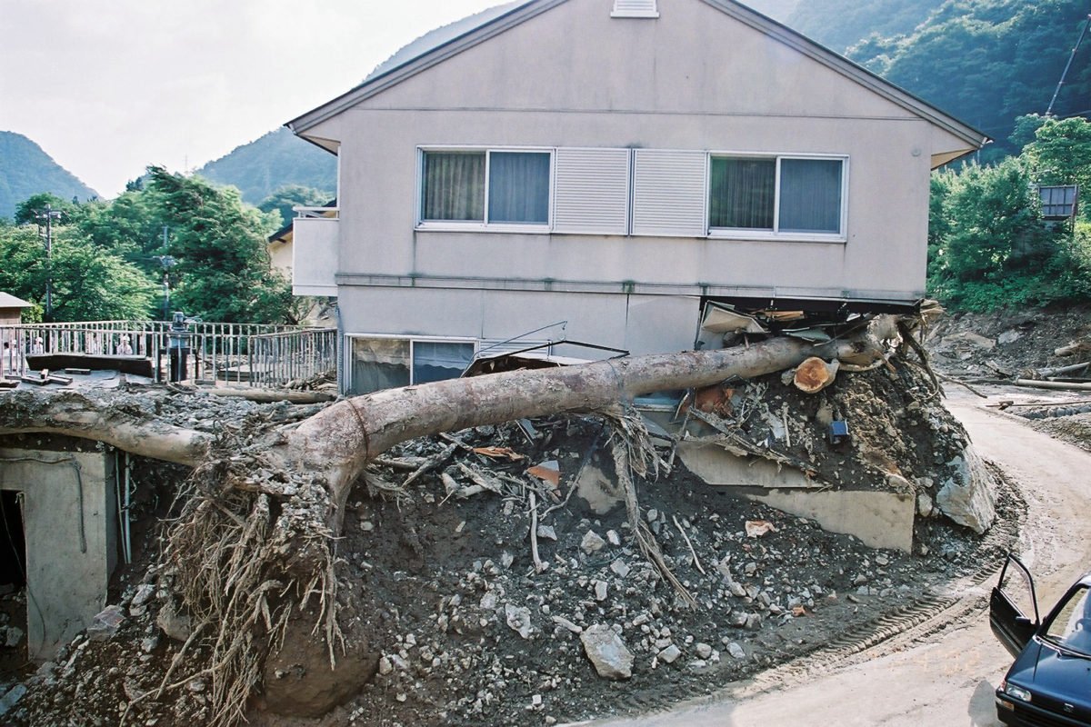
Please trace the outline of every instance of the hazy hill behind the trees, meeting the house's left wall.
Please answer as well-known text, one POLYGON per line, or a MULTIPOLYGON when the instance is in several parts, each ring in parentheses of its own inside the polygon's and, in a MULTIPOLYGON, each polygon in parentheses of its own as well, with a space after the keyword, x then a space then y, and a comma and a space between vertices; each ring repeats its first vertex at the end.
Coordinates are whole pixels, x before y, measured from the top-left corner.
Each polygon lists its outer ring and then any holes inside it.
POLYGON ((283 128, 209 161, 196 173, 239 187, 252 205, 288 184, 314 187, 329 196, 337 190, 337 157, 283 128))

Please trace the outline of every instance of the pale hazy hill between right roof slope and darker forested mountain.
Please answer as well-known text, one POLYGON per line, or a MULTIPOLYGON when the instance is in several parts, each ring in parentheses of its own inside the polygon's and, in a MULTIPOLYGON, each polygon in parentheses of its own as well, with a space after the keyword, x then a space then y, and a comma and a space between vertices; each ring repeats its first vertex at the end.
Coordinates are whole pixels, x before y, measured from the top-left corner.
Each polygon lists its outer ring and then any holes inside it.
POLYGON ((942 4, 944 0, 803 0, 787 24, 843 53, 872 34, 891 38, 912 33, 942 4))

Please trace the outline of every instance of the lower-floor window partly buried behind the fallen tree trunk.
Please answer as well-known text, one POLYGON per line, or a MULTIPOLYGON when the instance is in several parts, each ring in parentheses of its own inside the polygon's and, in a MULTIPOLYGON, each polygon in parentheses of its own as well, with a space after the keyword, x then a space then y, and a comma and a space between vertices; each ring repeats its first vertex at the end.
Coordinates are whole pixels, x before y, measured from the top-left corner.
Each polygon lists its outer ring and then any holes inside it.
POLYGON ((370 393, 400 386, 458 378, 473 360, 473 339, 349 336, 351 391, 370 393))

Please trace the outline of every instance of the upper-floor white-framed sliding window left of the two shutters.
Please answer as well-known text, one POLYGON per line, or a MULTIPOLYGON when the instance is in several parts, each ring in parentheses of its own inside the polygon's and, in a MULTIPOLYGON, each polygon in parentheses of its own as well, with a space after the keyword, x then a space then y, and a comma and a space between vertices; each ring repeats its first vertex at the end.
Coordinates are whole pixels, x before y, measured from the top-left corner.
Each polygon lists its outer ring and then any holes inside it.
POLYGON ((553 149, 421 148, 421 228, 548 231, 553 149))

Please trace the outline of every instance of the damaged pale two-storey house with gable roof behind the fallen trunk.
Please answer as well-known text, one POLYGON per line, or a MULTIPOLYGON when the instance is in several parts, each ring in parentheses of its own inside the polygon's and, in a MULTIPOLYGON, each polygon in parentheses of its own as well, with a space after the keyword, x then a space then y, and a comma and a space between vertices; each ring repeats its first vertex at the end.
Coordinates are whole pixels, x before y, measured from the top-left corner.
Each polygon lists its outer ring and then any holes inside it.
POLYGON ((930 172, 987 141, 732 0, 508 3, 287 125, 339 160, 293 283, 337 296, 353 393, 690 349, 707 301, 911 308, 930 172))

